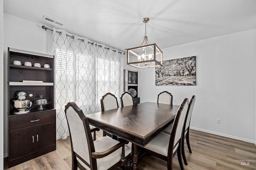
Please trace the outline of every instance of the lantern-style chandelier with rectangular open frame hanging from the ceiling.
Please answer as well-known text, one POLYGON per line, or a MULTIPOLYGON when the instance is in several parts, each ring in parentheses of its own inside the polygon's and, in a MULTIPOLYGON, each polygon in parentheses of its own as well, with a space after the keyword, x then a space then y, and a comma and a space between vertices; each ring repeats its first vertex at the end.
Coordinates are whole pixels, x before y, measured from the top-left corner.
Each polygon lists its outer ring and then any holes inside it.
POLYGON ((127 64, 136 68, 159 67, 163 64, 163 53, 159 47, 148 43, 146 24, 149 18, 143 18, 145 23, 145 36, 139 47, 127 49, 127 64))

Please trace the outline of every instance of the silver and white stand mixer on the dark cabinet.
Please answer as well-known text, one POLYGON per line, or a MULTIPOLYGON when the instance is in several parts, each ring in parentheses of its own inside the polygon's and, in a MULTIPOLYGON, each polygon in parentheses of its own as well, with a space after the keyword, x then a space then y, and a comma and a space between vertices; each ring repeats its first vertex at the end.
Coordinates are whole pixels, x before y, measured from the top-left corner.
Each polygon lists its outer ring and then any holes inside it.
POLYGON ((22 91, 16 92, 16 98, 18 100, 12 100, 13 106, 16 108, 13 113, 14 114, 21 114, 21 113, 28 113, 30 112, 29 107, 32 106, 32 102, 30 100, 26 100, 27 94, 22 91))

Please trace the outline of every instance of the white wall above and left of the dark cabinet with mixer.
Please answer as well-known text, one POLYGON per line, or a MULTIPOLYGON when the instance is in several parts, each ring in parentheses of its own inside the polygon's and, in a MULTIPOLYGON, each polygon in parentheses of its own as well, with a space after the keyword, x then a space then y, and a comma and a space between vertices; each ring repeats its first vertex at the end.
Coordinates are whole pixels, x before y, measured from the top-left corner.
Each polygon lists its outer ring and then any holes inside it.
MULTIPOLYGON (((4 16, 4 63, 5 63, 4 64, 4 79, 5 79, 4 82, 7 82, 8 47, 51 55, 52 54, 52 31, 44 31, 44 29, 42 29, 42 25, 28 21, 28 20, 24 20, 16 16, 12 16, 10 14, 4 13, 3 16, 4 16)), ((5 89, 3 90, 4 96, 6 97, 7 86, 5 86, 4 89, 5 89)), ((8 110, 7 106, 4 106, 4 157, 8 156, 7 155, 8 153, 7 110, 8 110)), ((0 111, 0 114, 1 113, 2 111, 0 111)))

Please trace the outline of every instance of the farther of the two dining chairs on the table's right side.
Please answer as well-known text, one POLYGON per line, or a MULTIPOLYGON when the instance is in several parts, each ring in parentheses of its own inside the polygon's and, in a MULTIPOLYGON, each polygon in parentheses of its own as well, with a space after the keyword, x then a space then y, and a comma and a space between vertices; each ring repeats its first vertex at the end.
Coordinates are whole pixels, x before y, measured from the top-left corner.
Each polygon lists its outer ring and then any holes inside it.
MULTIPOLYGON (((189 104, 188 104, 188 113, 187 113, 187 116, 186 116, 186 119, 185 119, 184 130, 183 130, 183 135, 182 135, 181 151, 182 151, 182 158, 183 158, 184 163, 186 165, 188 165, 188 161, 186 159, 186 154, 185 154, 185 149, 184 149, 185 148, 184 147, 184 140, 186 139, 186 142, 187 142, 187 145, 188 145, 188 150, 189 150, 190 153, 192 153, 192 150, 191 150, 191 147, 190 147, 190 141, 189 141, 189 127, 190 127, 190 119, 191 119, 191 115, 192 115, 192 111, 193 111, 193 108, 194 108, 195 101, 196 101, 196 96, 193 95, 189 104)), ((167 127, 164 130, 164 133, 171 134, 172 133, 172 125, 167 127)))

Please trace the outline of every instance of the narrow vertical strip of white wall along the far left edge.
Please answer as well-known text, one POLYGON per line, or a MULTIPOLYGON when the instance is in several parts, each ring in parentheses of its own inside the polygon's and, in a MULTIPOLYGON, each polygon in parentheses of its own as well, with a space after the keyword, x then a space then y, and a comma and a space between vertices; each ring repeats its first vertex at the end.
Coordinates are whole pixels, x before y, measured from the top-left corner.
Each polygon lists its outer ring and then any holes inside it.
MULTIPOLYGON (((0 0, 0 96, 4 95, 3 0, 0 0)), ((4 169, 4 100, 0 98, 0 169, 4 169)))

